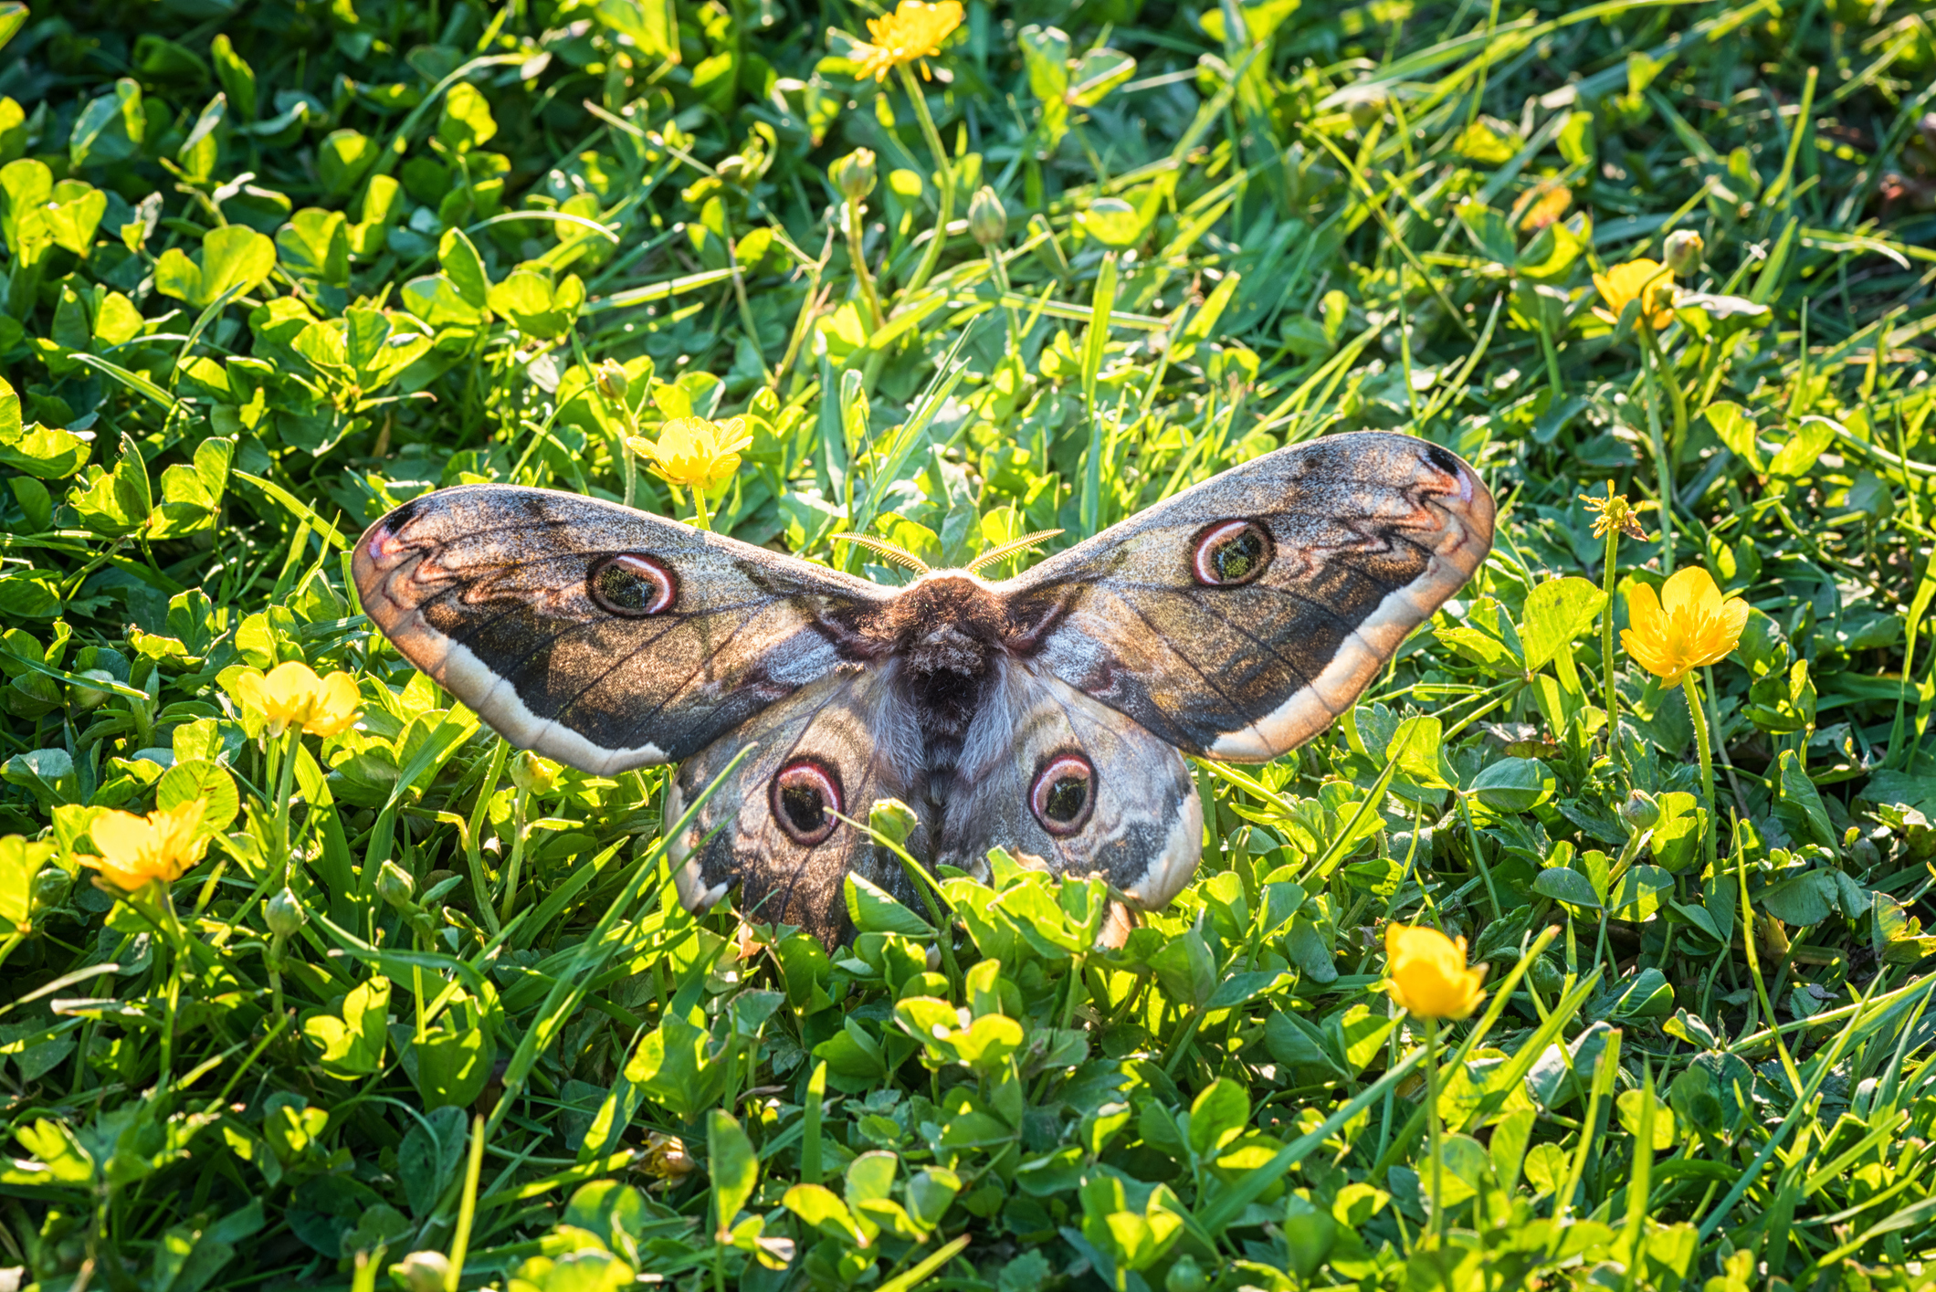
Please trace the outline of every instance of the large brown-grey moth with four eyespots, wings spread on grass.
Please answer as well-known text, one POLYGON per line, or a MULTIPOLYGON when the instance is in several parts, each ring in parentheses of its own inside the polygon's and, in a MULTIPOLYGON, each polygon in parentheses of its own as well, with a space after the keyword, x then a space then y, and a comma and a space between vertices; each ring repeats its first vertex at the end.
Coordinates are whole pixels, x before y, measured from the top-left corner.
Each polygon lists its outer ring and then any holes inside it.
MULTIPOLYGON (((1102 876, 1156 908, 1189 881, 1183 755, 1272 759, 1338 719, 1493 546, 1493 496, 1400 434, 1225 471, 1024 573, 906 587, 573 494, 472 484, 356 542, 364 612, 509 744, 594 775, 680 763, 681 901, 852 934, 848 872, 914 901, 860 823, 987 874, 1102 876)), ((1117 914, 1125 922, 1123 912, 1117 914)), ((1127 924, 1117 936, 1127 934, 1127 924)))

